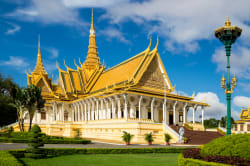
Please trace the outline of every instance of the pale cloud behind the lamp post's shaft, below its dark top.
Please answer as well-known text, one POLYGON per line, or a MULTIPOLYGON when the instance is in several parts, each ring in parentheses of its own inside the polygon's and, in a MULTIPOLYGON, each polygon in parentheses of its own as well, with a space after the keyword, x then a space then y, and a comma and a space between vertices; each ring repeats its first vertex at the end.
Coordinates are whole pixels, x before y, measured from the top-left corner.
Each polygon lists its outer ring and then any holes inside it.
MULTIPOLYGON (((226 55, 223 47, 215 50, 212 61, 217 64, 217 71, 226 71, 226 55)), ((250 49, 236 46, 230 56, 230 66, 232 73, 240 78, 250 79, 250 49)))

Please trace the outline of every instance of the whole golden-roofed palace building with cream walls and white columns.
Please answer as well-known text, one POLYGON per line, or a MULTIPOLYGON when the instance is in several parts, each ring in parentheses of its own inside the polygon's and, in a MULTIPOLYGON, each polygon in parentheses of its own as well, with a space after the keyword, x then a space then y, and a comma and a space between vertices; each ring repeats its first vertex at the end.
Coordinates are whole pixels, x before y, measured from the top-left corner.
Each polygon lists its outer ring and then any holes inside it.
POLYGON ((188 123, 187 112, 191 111, 189 125, 203 130, 208 104, 173 93, 175 87, 158 53, 158 43, 157 39, 151 49, 150 41, 141 53, 106 69, 98 57, 92 13, 86 60, 79 59, 74 69, 65 64, 63 70, 57 65, 59 79, 54 84, 43 66, 39 39, 36 67, 27 73, 27 79, 28 85, 42 88, 46 104, 35 113, 33 123, 48 135, 73 137, 80 130, 84 138, 121 142, 123 131, 127 131, 134 135, 132 143, 145 143, 144 134, 152 132, 155 142, 164 143, 164 133, 172 136, 172 142, 178 141, 171 125, 188 123), (201 124, 195 123, 198 110, 201 124))

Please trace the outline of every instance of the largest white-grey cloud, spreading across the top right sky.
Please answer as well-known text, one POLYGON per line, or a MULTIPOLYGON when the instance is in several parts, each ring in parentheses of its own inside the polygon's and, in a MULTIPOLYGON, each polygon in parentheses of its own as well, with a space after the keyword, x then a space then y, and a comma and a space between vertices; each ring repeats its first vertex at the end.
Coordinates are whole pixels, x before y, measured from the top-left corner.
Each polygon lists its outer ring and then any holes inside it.
POLYGON ((128 19, 137 24, 151 24, 145 26, 149 32, 156 32, 167 42, 173 43, 166 44, 168 49, 170 46, 172 50, 182 47, 184 51, 195 52, 199 49, 197 41, 215 38, 214 30, 224 24, 226 16, 230 16, 233 24, 244 29, 244 38, 249 38, 250 26, 246 24, 250 18, 249 5, 250 1, 247 0, 241 3, 233 0, 123 1, 116 7, 106 8, 104 17, 111 18, 117 24, 128 19))

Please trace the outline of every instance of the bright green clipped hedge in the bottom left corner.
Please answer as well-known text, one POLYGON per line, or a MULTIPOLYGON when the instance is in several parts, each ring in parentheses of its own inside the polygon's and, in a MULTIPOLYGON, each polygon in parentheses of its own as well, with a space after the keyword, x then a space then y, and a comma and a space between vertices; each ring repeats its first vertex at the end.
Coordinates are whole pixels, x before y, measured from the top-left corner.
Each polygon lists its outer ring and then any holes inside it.
POLYGON ((22 164, 8 151, 0 151, 0 166, 22 166, 22 164))

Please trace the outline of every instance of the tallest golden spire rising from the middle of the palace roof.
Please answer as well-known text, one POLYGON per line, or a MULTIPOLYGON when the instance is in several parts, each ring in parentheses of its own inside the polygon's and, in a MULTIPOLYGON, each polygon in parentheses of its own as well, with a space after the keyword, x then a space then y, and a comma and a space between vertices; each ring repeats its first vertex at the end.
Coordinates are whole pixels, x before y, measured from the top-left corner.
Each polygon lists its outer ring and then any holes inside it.
POLYGON ((100 66, 100 60, 98 57, 97 46, 96 46, 93 8, 92 8, 92 15, 91 15, 88 55, 87 55, 86 61, 83 63, 83 66, 89 70, 95 69, 97 66, 100 66))

